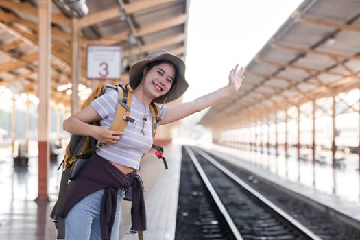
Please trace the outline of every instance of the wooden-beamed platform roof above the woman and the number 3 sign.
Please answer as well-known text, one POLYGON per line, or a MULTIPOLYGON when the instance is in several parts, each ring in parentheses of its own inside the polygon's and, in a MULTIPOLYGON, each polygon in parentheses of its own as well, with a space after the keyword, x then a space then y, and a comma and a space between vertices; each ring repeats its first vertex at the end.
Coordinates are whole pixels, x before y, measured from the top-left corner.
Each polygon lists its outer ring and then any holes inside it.
MULTIPOLYGON (((37 95, 38 88, 38 1, 0 0, 0 86, 20 80, 25 93, 37 95)), ((127 65, 141 60, 149 51, 166 48, 186 55, 187 0, 86 0, 88 14, 73 21, 61 2, 52 1, 51 99, 70 104, 58 86, 71 82, 73 27, 80 29, 81 80, 86 79, 88 45, 121 45, 127 65), (76 25, 74 25, 76 23, 76 25)), ((121 80, 128 81, 126 66, 121 80)), ((19 83, 19 82, 18 82, 19 83)))

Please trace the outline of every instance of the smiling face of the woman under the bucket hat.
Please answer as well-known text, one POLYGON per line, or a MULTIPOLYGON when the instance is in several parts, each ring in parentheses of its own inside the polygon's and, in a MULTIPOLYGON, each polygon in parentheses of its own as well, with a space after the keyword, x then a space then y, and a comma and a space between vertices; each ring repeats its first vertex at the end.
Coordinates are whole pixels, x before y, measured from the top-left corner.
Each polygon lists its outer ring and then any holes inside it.
POLYGON ((143 81, 145 84, 144 93, 147 93, 152 99, 163 96, 169 92, 174 79, 175 68, 172 64, 158 64, 145 73, 143 81))

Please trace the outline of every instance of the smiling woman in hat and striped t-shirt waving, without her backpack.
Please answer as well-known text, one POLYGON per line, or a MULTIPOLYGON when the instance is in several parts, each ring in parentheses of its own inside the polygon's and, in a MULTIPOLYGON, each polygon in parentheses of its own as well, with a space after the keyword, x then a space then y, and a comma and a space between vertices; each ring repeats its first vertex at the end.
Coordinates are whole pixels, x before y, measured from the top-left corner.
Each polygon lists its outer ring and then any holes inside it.
MULTIPOLYGON (((238 65, 229 74, 229 83, 194 101, 162 106, 160 125, 172 123, 225 99, 235 93, 244 79, 238 65)), ((124 132, 109 130, 114 119, 117 93, 110 91, 64 121, 71 134, 92 136, 104 147, 97 149, 86 167, 68 187, 65 204, 65 239, 118 239, 120 204, 132 187, 132 230, 145 230, 145 206, 141 178, 136 174, 141 156, 152 146, 152 121, 149 104, 165 104, 181 97, 188 84, 185 64, 167 50, 149 53, 129 72, 132 91, 130 116, 124 132), (100 126, 91 125, 99 121, 100 126)))

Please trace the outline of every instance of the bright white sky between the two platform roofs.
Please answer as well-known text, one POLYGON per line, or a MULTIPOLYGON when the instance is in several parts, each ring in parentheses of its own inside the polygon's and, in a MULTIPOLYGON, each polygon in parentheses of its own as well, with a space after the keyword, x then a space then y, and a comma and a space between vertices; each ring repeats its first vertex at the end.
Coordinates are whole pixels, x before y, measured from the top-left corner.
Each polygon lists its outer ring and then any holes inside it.
MULTIPOLYGON (((187 28, 184 101, 228 83, 236 64, 246 67, 302 0, 192 0, 187 28)), ((246 80, 245 80, 246 81, 246 80)))

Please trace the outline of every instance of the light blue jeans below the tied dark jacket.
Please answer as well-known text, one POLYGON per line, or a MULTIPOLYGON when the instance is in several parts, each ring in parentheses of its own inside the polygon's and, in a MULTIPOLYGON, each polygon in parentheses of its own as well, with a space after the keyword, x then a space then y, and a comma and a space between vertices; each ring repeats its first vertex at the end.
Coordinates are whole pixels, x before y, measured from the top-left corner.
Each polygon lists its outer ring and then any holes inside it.
MULTIPOLYGON (((104 189, 78 202, 65 218, 65 240, 101 240, 100 208, 104 189)), ((111 240, 119 239, 120 208, 125 191, 119 189, 117 211, 111 230, 111 240)))

